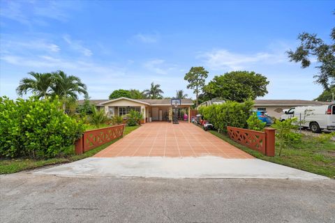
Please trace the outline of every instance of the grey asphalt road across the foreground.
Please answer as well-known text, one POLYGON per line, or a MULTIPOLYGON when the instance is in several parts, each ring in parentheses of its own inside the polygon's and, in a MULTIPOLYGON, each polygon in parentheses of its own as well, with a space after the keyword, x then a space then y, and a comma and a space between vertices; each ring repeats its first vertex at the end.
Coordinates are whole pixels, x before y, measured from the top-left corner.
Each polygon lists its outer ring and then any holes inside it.
POLYGON ((335 222, 335 180, 0 176, 0 222, 335 222))

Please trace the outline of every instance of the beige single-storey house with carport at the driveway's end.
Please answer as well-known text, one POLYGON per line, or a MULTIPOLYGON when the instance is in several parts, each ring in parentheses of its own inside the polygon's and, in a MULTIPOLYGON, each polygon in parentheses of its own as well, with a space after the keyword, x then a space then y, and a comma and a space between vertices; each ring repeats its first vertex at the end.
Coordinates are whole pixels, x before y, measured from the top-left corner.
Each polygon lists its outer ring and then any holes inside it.
MULTIPOLYGON (((84 100, 79 100, 78 103, 82 105, 84 100)), ((172 105, 171 99, 131 99, 131 98, 116 98, 112 100, 90 100, 92 105, 98 109, 105 109, 107 116, 124 116, 132 109, 142 112, 144 116, 144 123, 151 121, 164 121, 172 119, 172 105)), ((188 114, 188 121, 191 121, 191 106, 193 101, 191 99, 181 99, 181 105, 178 109, 184 109, 188 114)))

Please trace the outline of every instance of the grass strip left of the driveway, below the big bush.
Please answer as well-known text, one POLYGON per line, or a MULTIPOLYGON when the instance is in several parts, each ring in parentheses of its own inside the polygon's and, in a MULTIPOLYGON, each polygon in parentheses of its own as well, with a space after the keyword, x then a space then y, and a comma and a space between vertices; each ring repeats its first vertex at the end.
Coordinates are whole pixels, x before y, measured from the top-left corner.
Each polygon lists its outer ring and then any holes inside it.
MULTIPOLYGON (((110 126, 110 125, 107 125, 110 126)), ((107 127, 107 126, 101 126, 101 128, 107 127)), ((124 135, 132 132, 133 130, 139 128, 140 126, 126 126, 124 129, 124 135)), ((91 128, 94 129, 94 128, 91 128)), ((110 144, 113 144, 115 141, 119 139, 114 139, 113 141, 110 141, 107 144, 103 144, 102 146, 98 146, 97 148, 92 149, 91 151, 87 151, 86 153, 83 153, 81 155, 75 155, 74 146, 73 146, 73 154, 68 155, 66 157, 59 157, 59 158, 53 158, 50 160, 31 160, 31 159, 17 159, 17 160, 0 160, 0 174, 13 174, 18 171, 26 170, 26 169, 34 169, 37 167, 43 167, 46 165, 51 164, 59 164, 59 163, 66 163, 66 162, 74 162, 77 160, 82 160, 84 158, 90 157, 100 151, 102 151, 107 146, 110 146, 110 144)))

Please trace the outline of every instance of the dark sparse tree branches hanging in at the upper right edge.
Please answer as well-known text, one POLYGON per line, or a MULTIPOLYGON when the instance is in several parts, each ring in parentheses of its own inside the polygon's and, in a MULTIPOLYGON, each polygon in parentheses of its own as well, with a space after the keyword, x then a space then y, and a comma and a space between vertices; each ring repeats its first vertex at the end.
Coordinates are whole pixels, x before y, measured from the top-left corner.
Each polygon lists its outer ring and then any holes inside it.
MULTIPOLYGON (((335 13, 334 13, 335 15, 335 13)), ((316 34, 301 33, 298 36, 300 45, 293 52, 288 51, 290 61, 301 62, 301 68, 311 65, 311 59, 316 58, 319 74, 315 75, 316 82, 325 89, 335 83, 335 27, 330 33, 331 43, 326 44, 316 34)))

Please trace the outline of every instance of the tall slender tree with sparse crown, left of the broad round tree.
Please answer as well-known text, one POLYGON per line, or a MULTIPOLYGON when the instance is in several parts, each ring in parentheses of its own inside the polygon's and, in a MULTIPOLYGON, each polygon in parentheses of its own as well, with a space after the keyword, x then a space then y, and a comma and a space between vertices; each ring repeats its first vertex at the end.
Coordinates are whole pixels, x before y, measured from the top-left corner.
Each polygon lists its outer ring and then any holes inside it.
POLYGON ((193 89, 196 97, 196 106, 198 107, 198 95, 200 90, 205 84, 206 78, 208 77, 208 71, 204 70, 203 67, 192 67, 188 73, 186 73, 184 79, 188 81, 187 89, 193 89))

